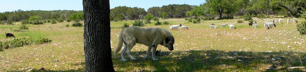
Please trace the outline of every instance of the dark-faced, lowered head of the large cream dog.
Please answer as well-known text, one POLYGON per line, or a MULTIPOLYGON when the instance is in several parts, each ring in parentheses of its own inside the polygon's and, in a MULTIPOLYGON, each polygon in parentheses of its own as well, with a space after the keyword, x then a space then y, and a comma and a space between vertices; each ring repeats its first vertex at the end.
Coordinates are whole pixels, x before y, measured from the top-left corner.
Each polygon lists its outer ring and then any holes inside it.
POLYGON ((169 36, 169 37, 166 37, 164 39, 164 41, 162 41, 162 46, 165 46, 165 47, 168 47, 168 49, 170 51, 174 50, 173 48, 173 44, 174 44, 174 37, 173 36, 169 36))

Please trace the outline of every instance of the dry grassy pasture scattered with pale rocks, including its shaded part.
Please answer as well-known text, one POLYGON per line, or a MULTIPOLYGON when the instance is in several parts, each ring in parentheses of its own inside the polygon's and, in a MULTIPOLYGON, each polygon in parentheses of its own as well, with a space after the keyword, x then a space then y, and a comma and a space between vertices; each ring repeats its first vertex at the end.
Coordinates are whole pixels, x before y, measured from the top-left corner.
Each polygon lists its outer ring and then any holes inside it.
MULTIPOLYGON (((193 24, 183 18, 160 20, 168 21, 171 25, 182 24, 189 30, 170 31, 175 38, 174 51, 166 47, 158 46, 161 52, 157 56, 159 61, 152 58, 145 60, 147 47, 136 44, 132 55, 136 58, 132 61, 127 55, 128 61, 120 61, 120 54, 112 54, 113 65, 116 71, 306 71, 306 69, 286 69, 286 67, 306 66, 305 35, 296 31, 296 24, 287 18, 281 18, 282 23, 277 23, 276 28, 263 29, 263 23, 272 21, 267 18, 258 19, 260 27, 254 29, 248 27, 248 21, 237 23, 237 20, 212 20, 201 21, 193 24), (209 29, 210 24, 216 24, 218 29, 209 29), (237 29, 221 28, 221 24, 233 24, 237 29), (266 40, 269 41, 266 41, 266 40), (283 43, 283 44, 281 44, 283 43), (284 44, 285 43, 285 44, 284 44), (288 47, 290 46, 290 47, 288 47), (171 54, 171 55, 170 55, 171 54), (282 56, 284 58, 279 58, 282 56), (272 61, 275 58, 276 61, 272 61), (275 66, 274 66, 275 65, 275 66), (274 70, 267 70, 267 67, 274 70)), ((292 20, 292 19, 290 19, 292 20)), ((299 22, 304 21, 298 19, 299 22)), ((155 26, 156 21, 151 21, 144 28, 159 27, 169 30, 169 25, 155 26)), ((111 22, 111 46, 112 51, 117 46, 117 35, 124 23, 132 26, 133 21, 111 22)), ((1 71, 27 71, 26 68, 39 70, 41 67, 47 71, 84 71, 84 43, 83 27, 65 27, 72 22, 58 22, 57 24, 45 23, 43 25, 27 25, 27 32, 13 32, 17 25, 0 25, 0 40, 5 38, 5 32, 13 33, 16 38, 46 37, 53 41, 49 44, 32 44, 24 47, 5 49, 0 52, 1 71), (12 29, 12 30, 11 30, 12 29), (6 61, 9 61, 5 63, 6 61), (22 62, 21 62, 22 61, 22 62)), ((150 55, 151 56, 151 55, 150 55)))

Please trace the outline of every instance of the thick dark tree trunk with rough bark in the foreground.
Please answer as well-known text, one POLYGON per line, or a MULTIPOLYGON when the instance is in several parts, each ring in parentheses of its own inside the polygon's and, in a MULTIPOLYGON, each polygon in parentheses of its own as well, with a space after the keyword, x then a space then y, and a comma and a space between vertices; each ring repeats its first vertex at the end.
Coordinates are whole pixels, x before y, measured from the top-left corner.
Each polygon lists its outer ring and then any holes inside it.
POLYGON ((114 72, 109 0, 83 0, 86 72, 114 72))

